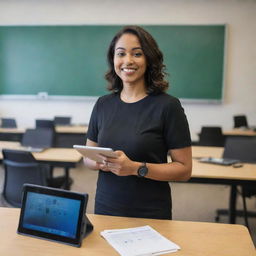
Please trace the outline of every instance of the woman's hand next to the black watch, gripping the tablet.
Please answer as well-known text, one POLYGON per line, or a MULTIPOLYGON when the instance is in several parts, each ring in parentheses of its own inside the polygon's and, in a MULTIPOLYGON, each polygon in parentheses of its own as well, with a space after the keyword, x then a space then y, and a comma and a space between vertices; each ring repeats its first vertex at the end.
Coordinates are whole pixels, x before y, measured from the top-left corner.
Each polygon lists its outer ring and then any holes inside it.
POLYGON ((118 157, 106 157, 101 168, 118 176, 134 175, 136 170, 136 162, 130 160, 123 151, 117 150, 115 153, 118 157))

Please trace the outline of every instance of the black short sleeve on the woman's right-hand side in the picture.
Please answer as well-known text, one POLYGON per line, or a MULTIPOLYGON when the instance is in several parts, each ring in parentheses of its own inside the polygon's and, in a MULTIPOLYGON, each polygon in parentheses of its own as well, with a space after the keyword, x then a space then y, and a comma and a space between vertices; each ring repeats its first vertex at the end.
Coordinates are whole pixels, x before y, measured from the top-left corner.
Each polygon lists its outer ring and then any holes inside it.
POLYGON ((168 150, 191 146, 187 117, 178 99, 174 98, 168 104, 164 118, 164 136, 168 150))

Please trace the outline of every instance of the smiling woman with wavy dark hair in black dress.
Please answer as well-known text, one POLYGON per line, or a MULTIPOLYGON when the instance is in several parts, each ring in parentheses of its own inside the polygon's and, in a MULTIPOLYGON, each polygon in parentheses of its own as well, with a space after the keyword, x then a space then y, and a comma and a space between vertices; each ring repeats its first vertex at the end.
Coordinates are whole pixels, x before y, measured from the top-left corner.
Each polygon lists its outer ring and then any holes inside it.
POLYGON ((112 93, 96 102, 86 145, 113 148, 118 157, 103 164, 85 159, 100 169, 95 213, 171 219, 168 181, 190 178, 191 139, 179 100, 165 93, 162 53, 144 29, 124 27, 110 44, 108 64, 112 93))

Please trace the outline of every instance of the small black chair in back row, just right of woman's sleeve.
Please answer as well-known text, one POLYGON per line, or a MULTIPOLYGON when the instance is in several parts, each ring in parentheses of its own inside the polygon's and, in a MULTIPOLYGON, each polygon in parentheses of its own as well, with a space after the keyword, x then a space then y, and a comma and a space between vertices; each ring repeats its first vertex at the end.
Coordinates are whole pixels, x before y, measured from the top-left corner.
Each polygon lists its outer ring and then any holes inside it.
POLYGON ((199 134, 199 146, 223 147, 225 136, 222 134, 221 127, 203 126, 199 134))

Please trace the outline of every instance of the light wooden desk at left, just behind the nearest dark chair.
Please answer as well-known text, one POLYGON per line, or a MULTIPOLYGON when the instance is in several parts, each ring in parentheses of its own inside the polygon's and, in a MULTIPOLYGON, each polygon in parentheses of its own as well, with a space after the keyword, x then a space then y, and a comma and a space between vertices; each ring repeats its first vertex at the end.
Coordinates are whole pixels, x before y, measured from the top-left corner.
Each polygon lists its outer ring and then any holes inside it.
MULTIPOLYGON (((20 149, 23 147, 19 142, 0 141, 0 160, 3 159, 2 149, 20 149)), ((41 163, 47 163, 56 167, 63 167, 66 176, 65 188, 69 189, 69 168, 75 168, 82 156, 73 148, 49 148, 40 153, 32 153, 34 158, 41 163)))

